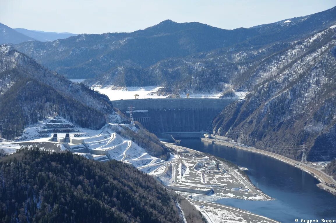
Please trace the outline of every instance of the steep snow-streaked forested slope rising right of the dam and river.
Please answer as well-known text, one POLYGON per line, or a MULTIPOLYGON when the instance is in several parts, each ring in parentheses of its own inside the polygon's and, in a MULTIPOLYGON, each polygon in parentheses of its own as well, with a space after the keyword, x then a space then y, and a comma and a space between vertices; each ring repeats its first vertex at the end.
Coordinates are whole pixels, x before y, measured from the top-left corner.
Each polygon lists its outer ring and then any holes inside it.
POLYGON ((336 26, 238 77, 251 93, 216 117, 214 133, 296 159, 303 143, 310 160, 336 156, 336 26))

